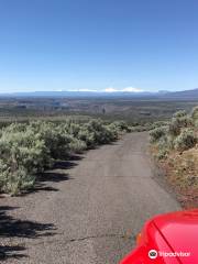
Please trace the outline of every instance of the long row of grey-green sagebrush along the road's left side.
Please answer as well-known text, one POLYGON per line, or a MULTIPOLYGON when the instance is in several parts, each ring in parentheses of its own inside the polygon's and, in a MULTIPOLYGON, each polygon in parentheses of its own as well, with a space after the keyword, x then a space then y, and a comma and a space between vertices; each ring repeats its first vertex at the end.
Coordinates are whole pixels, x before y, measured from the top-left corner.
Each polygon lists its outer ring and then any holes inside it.
POLYGON ((116 141, 125 131, 125 122, 98 119, 7 125, 0 130, 0 191, 18 195, 33 188, 37 175, 57 160, 116 141))

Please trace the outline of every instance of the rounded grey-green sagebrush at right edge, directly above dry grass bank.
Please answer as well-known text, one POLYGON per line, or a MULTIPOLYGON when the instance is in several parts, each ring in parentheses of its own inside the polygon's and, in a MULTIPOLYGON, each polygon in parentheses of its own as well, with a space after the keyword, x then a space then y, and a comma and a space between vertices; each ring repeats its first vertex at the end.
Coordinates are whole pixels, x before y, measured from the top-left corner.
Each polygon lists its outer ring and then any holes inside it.
POLYGON ((197 136, 195 135, 195 132, 190 129, 183 130, 182 133, 174 141, 175 148, 178 151, 185 151, 194 147, 196 143, 197 136))

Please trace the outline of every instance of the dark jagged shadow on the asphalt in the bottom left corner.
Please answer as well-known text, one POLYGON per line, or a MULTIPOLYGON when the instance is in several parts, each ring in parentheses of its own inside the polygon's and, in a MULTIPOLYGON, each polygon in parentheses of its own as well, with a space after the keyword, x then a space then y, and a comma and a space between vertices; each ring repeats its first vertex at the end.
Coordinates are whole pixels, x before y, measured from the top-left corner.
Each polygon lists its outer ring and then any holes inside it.
POLYGON ((8 215, 8 211, 18 209, 15 207, 0 207, 0 263, 10 257, 25 257, 21 253, 25 250, 23 245, 12 244, 11 238, 36 239, 54 235, 56 228, 52 223, 38 223, 29 220, 19 220, 8 215), (3 240, 4 238, 4 240, 3 240))

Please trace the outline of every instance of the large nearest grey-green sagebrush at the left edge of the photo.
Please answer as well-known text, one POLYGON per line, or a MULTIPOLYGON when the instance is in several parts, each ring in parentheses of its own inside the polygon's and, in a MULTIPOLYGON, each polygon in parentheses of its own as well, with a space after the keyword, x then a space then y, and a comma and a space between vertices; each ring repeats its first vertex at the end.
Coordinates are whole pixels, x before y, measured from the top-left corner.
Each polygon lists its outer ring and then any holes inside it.
POLYGON ((0 188, 19 194, 34 185, 35 175, 44 170, 48 161, 44 142, 24 132, 4 132, 0 139, 0 188))

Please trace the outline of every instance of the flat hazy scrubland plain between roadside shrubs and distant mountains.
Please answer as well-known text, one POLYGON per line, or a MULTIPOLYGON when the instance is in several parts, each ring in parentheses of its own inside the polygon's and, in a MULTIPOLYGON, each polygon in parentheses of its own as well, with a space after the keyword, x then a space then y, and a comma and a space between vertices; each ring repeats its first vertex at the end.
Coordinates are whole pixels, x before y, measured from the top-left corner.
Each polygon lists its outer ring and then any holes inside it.
POLYGON ((124 120, 131 125, 151 125, 168 120, 178 110, 190 111, 197 106, 194 100, 131 98, 131 97, 0 97, 0 127, 26 120, 64 120, 67 116, 100 118, 107 121, 124 120))

